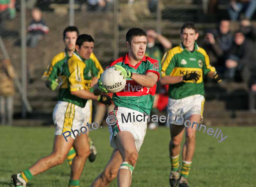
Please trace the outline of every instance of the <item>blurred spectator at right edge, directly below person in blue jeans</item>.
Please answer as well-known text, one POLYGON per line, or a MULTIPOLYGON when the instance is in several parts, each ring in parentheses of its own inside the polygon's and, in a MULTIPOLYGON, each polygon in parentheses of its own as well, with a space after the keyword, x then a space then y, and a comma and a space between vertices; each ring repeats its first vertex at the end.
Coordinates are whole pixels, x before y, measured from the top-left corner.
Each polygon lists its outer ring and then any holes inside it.
POLYGON ((252 26, 251 21, 242 19, 240 21, 240 29, 245 35, 245 38, 256 41, 256 28, 252 26))

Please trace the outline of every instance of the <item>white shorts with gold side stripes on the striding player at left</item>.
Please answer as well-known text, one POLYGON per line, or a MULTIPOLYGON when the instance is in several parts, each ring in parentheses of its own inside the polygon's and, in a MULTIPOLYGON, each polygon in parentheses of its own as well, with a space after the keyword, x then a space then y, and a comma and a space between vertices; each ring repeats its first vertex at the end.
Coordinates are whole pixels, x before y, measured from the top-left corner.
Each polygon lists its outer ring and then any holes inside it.
MULTIPOLYGON (((53 111, 53 122, 56 125, 55 135, 62 135, 66 131, 78 130, 83 126, 84 114, 82 108, 64 101, 59 101, 53 111)), ((74 132, 78 136, 78 132, 74 132)), ((75 139, 73 133, 71 138, 75 139)))

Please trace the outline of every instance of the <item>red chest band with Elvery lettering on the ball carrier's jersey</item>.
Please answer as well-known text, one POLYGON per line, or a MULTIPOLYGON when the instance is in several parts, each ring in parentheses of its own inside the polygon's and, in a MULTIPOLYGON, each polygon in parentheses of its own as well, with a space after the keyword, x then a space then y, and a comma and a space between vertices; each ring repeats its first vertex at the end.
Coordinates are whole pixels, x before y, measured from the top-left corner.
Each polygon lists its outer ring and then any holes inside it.
POLYGON ((117 92, 117 96, 142 96, 142 95, 155 95, 156 84, 152 88, 139 85, 134 80, 127 80, 125 87, 122 91, 117 92))

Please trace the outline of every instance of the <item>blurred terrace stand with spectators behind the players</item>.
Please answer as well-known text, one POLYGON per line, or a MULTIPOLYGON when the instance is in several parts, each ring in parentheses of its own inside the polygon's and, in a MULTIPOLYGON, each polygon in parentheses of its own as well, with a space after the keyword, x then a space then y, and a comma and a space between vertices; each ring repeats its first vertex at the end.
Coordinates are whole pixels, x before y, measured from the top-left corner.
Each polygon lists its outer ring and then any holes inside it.
MULTIPOLYGON (((256 0, 24 0, 23 17, 21 2, 0 0, 2 124, 52 124, 57 92, 50 92, 41 76, 53 56, 64 50, 61 34, 68 25, 73 24, 80 33, 93 36, 94 54, 105 68, 127 51, 125 33, 129 28, 147 31, 146 55, 161 61, 167 50, 180 44, 180 27, 187 21, 196 23, 197 44, 206 50, 210 64, 223 80, 220 85, 205 80, 208 104, 204 107, 204 122, 208 125, 254 124, 256 0), (22 85, 27 87, 23 94, 33 109, 25 115, 22 115, 25 110, 22 91, 15 89, 19 88, 17 80, 22 79, 24 65, 22 21, 26 25, 27 69, 26 83, 22 80, 22 85)), ((165 112, 166 90, 158 84, 152 114, 165 112)), ((105 124, 105 106, 95 102, 93 116, 93 122, 105 124)), ((154 123, 152 128, 156 126, 154 123)))

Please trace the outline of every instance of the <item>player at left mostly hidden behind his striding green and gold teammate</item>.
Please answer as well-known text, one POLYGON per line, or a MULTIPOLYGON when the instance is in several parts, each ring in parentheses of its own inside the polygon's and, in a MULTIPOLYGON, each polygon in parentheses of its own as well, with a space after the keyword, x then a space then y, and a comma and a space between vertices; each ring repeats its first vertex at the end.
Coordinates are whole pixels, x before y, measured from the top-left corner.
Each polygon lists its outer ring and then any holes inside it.
MULTIPOLYGON (((63 59, 68 59, 69 57, 72 56, 73 52, 75 51, 75 45, 76 45, 76 39, 79 35, 78 28, 74 26, 69 26, 64 29, 63 31, 63 41, 65 43, 65 50, 64 52, 61 52, 54 56, 53 60, 49 64, 49 67, 47 70, 44 72, 44 75, 42 77, 42 80, 45 80, 46 86, 50 88, 52 91, 55 90, 61 81, 61 76, 60 76, 60 70, 61 66, 63 65, 64 60, 63 59)), ((99 74, 103 72, 103 69, 101 67, 101 64, 99 63, 98 59, 94 55, 94 53, 91 53, 90 59, 93 60, 93 70, 91 73, 93 74, 93 84, 97 83, 97 80, 99 78, 99 74)), ((93 86, 92 84, 92 86, 93 86)), ((63 89, 64 85, 60 85, 59 91, 63 89)), ((85 107, 83 108, 83 113, 85 114, 84 117, 84 124, 87 122, 91 124, 91 117, 92 117, 92 100, 88 100, 85 107)), ((89 131, 87 131, 89 135, 89 131)), ((88 136, 89 138, 89 136, 88 136)), ((89 138, 88 139, 89 144, 90 144, 90 151, 91 154, 89 156, 90 162, 93 162, 96 158, 96 148, 93 145, 93 141, 89 138)), ((75 158, 76 152, 74 150, 74 147, 71 147, 70 151, 68 152, 68 163, 69 166, 72 165, 72 160, 75 158)))

